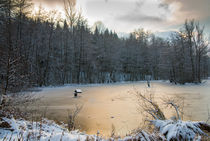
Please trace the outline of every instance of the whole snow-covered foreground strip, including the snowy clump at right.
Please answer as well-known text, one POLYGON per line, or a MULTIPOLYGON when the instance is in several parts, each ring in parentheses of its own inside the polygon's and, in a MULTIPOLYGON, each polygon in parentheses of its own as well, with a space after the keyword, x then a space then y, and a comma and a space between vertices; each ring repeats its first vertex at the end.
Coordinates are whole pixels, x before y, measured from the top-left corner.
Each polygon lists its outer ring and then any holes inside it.
POLYGON ((31 122, 23 119, 2 118, 1 125, 7 123, 7 128, 0 128, 0 141, 159 141, 159 140, 196 140, 200 141, 206 134, 199 128, 198 122, 184 122, 172 120, 152 121, 159 133, 148 133, 139 130, 133 135, 124 138, 115 137, 103 139, 99 135, 87 135, 79 131, 69 132, 66 128, 57 125, 54 121, 43 119, 40 122, 31 122))

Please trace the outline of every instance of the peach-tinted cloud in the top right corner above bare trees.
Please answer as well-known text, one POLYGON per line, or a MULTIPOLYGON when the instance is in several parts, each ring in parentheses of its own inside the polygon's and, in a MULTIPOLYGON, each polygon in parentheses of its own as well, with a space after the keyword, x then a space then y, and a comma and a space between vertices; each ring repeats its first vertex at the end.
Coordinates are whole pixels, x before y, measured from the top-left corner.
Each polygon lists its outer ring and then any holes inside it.
POLYGON ((163 0, 165 5, 174 5, 173 25, 183 24, 186 19, 195 19, 210 31, 210 0, 163 0))

